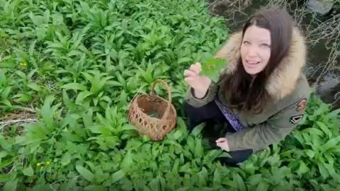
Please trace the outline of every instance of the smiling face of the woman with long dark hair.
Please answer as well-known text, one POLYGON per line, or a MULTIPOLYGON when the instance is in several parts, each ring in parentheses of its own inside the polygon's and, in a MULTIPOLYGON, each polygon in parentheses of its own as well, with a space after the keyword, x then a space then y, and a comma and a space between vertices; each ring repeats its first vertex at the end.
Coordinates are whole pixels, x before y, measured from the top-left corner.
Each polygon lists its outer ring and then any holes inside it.
POLYGON ((271 31, 256 25, 247 28, 242 40, 241 57, 246 73, 259 74, 271 57, 271 31))

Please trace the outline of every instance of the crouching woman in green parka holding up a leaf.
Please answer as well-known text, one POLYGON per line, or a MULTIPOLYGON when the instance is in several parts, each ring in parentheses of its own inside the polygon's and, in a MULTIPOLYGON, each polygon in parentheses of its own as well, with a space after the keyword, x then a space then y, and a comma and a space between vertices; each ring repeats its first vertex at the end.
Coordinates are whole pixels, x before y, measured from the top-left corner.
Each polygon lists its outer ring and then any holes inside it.
POLYGON ((284 139, 302 119, 309 96, 305 54, 305 40, 286 11, 256 13, 215 54, 227 59, 217 83, 200 75, 200 63, 184 71, 189 127, 206 122, 214 131, 222 122, 227 134, 214 144, 229 152, 224 163, 231 166, 284 139))

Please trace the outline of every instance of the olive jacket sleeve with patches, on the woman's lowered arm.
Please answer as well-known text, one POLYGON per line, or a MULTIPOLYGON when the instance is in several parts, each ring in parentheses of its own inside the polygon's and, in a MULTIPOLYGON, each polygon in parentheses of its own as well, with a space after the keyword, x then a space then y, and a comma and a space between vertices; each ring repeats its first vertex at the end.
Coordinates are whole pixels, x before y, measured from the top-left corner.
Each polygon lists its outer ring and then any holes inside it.
POLYGON ((297 103, 300 100, 288 105, 287 108, 273 115, 266 122, 242 129, 234 134, 227 134, 230 151, 252 149, 253 152, 256 152, 285 139, 302 120, 305 110, 297 110, 297 103))

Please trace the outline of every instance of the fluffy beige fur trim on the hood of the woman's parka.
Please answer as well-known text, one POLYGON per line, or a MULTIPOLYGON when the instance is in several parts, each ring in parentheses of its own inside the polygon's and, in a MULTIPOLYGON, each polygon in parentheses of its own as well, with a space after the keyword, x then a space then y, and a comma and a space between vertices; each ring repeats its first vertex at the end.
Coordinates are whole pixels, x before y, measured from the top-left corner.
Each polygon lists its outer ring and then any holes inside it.
MULTIPOLYGON (((242 31, 232 34, 215 57, 227 59, 229 63, 222 74, 233 74, 236 71, 237 59, 240 57, 242 31)), ((293 28, 292 41, 288 54, 283 57, 280 65, 273 71, 266 83, 266 91, 274 99, 281 99, 295 90, 297 80, 302 74, 306 63, 305 38, 297 28, 293 28)))

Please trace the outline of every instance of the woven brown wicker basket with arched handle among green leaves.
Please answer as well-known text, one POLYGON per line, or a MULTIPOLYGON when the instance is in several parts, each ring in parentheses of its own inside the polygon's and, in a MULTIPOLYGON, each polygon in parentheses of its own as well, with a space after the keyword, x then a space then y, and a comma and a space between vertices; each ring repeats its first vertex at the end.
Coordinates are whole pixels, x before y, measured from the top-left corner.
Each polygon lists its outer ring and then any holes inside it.
POLYGON ((140 135, 147 135, 154 141, 162 140, 166 133, 175 127, 176 117, 176 110, 171 104, 170 87, 161 79, 152 83, 150 95, 136 96, 130 103, 128 115, 130 123, 137 127, 140 135), (154 95, 156 83, 162 83, 166 87, 169 100, 154 95))

